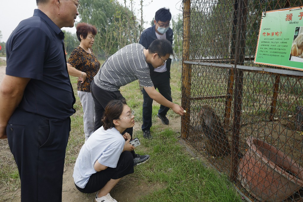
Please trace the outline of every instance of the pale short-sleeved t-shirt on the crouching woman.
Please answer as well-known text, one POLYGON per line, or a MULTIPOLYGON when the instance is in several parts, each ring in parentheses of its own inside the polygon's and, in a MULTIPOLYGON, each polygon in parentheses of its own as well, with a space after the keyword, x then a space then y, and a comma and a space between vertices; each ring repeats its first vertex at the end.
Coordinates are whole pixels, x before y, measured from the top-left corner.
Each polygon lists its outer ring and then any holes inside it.
POLYGON ((89 177, 96 173, 95 162, 115 168, 123 151, 124 137, 116 128, 104 130, 103 126, 92 133, 82 146, 77 157, 73 178, 75 184, 85 188, 89 177))

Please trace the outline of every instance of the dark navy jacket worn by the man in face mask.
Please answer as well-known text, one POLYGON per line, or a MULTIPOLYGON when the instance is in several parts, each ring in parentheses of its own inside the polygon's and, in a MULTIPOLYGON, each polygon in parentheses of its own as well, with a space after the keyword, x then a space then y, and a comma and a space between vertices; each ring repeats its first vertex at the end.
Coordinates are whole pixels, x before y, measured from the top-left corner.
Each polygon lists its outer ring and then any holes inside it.
MULTIPOLYGON (((155 33, 155 27, 156 27, 156 25, 149 27, 149 28, 145 29, 141 34, 139 44, 143 45, 145 49, 148 49, 149 45, 151 45, 151 42, 153 42, 155 39, 157 39, 157 36, 155 33)), ((168 30, 165 32, 165 34, 166 34, 166 39, 168 41, 170 41, 172 44, 173 35, 174 35, 174 33, 172 32, 172 29, 168 28, 168 30)), ((155 68, 150 63, 147 63, 147 64, 149 66, 150 75, 152 76, 155 68)), ((171 59, 168 58, 166 61, 166 69, 169 73, 169 76, 170 76, 170 66, 171 66, 171 59)))

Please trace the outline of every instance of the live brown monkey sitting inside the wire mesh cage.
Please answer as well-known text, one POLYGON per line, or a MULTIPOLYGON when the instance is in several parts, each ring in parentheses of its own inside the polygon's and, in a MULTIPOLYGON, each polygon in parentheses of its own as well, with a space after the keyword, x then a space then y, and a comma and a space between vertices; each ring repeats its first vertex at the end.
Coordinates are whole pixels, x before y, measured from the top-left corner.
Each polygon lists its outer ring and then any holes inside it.
POLYGON ((207 139, 204 140, 206 151, 214 157, 222 157, 231 153, 228 138, 219 116, 208 105, 201 107, 198 113, 201 129, 207 139))

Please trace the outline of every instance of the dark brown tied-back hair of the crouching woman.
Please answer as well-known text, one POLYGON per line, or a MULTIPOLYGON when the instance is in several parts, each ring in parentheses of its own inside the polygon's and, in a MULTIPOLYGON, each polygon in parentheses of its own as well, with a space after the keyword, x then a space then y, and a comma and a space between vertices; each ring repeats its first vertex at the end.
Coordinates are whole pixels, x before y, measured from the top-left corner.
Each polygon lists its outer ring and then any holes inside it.
POLYGON ((106 105, 105 111, 104 111, 103 117, 102 117, 104 130, 110 129, 115 126, 115 124, 113 123, 113 120, 119 119, 119 116, 123 112, 124 105, 126 105, 125 100, 117 100, 117 99, 110 101, 106 105))

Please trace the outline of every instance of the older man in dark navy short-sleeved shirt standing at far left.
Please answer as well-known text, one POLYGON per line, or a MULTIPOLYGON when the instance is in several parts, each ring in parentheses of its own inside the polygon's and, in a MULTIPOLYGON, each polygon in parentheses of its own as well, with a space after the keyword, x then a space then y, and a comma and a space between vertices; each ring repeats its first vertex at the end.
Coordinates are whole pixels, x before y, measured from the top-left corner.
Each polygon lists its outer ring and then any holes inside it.
POLYGON ((75 97, 62 27, 73 27, 78 0, 37 0, 6 43, 0 89, 0 138, 8 144, 21 179, 21 200, 62 201, 65 150, 75 97))

